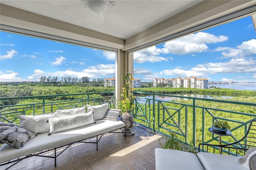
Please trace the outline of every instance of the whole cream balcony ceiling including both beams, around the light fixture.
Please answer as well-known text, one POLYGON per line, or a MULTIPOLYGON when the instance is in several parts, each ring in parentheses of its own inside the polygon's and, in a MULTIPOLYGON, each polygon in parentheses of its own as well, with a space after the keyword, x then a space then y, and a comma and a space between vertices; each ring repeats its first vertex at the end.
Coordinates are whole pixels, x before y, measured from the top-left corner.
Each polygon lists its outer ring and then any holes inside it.
POLYGON ((128 50, 255 4, 255 1, 115 0, 104 14, 85 0, 1 0, 1 24, 128 50))

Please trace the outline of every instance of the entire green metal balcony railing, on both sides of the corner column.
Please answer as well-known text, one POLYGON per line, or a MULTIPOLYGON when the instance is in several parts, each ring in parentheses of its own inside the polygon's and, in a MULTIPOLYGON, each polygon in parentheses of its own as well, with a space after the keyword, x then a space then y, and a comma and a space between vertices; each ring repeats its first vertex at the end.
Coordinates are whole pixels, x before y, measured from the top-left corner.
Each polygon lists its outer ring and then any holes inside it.
MULTIPOLYGON (((134 122, 166 135, 169 134, 169 131, 174 131, 180 140, 194 146, 198 146, 200 142, 218 144, 218 136, 208 131, 208 128, 216 120, 228 121, 231 126, 232 135, 222 136, 223 144, 242 138, 246 134, 250 121, 256 120, 256 103, 137 91, 132 93, 136 96, 133 111, 134 122), (138 95, 146 95, 146 97, 138 95), (159 97, 163 97, 163 99, 159 99, 159 97), (166 100, 164 97, 173 99, 166 100)), ((20 102, 18 105, 1 105, 0 118, 1 121, 17 124, 20 114, 53 113, 56 109, 71 109, 87 104, 99 105, 107 102, 110 108, 115 108, 114 91, 0 98, 1 103, 11 100, 20 102), (22 104, 23 100, 26 100, 23 102, 24 104, 22 104)), ((242 143, 240 146, 244 147, 242 143)))

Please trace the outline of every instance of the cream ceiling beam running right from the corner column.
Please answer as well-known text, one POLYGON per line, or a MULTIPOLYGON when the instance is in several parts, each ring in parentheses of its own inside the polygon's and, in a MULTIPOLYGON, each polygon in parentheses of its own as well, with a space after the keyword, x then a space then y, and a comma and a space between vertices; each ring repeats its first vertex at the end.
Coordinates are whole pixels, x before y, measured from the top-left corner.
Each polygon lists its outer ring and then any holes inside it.
POLYGON ((256 4, 255 0, 205 0, 125 40, 123 51, 160 40, 256 4))

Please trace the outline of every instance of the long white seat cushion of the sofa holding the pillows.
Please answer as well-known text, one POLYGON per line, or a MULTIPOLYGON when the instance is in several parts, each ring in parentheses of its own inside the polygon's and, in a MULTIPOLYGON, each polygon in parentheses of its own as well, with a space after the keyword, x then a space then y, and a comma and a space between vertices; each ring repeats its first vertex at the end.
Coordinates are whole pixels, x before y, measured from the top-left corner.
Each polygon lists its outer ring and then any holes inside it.
MULTIPOLYGON (((98 120, 83 127, 73 128, 61 132, 56 132, 48 136, 48 133, 37 134, 29 140, 23 148, 16 149, 8 144, 0 147, 0 161, 6 162, 20 156, 48 150, 58 146, 66 145, 83 139, 91 138, 100 134, 124 127, 122 121, 98 120)), ((121 137, 121 136, 120 136, 121 137)))

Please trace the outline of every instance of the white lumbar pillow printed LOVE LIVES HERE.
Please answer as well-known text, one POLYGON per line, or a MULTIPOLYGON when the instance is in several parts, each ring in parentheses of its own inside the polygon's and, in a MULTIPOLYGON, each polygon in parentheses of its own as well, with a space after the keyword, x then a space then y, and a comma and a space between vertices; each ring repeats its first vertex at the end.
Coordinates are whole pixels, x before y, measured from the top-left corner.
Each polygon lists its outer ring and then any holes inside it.
POLYGON ((50 118, 48 120, 50 123, 50 134, 94 123, 92 111, 80 115, 50 118))

